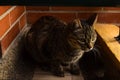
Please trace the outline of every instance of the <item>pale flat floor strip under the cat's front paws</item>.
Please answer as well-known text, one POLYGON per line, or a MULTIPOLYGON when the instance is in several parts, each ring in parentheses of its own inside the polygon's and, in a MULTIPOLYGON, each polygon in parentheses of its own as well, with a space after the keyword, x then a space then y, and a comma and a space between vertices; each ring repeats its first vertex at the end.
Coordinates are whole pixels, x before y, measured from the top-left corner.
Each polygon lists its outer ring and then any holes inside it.
POLYGON ((84 78, 82 74, 80 74, 79 76, 75 76, 67 72, 65 73, 65 77, 57 77, 50 72, 42 71, 39 67, 36 67, 33 80, 84 80, 84 78))

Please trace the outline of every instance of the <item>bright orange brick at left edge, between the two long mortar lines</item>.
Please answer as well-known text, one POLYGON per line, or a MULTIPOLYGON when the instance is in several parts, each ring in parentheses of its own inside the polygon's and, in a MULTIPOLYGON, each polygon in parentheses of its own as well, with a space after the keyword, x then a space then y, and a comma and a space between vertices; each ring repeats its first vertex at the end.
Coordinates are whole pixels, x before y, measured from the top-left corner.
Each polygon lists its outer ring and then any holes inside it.
POLYGON ((0 37, 9 29, 9 14, 5 16, 2 20, 0 20, 0 37))

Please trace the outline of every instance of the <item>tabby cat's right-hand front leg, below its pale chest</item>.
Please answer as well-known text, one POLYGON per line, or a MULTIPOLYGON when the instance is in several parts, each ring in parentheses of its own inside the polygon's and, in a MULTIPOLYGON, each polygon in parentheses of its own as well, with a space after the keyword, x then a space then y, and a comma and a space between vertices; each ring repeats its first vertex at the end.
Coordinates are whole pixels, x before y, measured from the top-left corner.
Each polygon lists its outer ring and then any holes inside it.
POLYGON ((70 73, 74 75, 80 74, 80 67, 77 63, 71 63, 70 64, 70 73))

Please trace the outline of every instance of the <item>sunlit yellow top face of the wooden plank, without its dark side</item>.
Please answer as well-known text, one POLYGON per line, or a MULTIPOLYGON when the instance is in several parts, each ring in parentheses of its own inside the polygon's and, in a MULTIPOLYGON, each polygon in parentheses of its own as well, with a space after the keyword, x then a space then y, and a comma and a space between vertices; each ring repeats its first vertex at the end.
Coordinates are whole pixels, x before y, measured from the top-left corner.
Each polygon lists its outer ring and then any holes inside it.
POLYGON ((112 24, 96 24, 95 29, 106 43, 106 46, 110 49, 111 53, 113 53, 120 62, 120 43, 114 38, 118 36, 119 28, 112 24))

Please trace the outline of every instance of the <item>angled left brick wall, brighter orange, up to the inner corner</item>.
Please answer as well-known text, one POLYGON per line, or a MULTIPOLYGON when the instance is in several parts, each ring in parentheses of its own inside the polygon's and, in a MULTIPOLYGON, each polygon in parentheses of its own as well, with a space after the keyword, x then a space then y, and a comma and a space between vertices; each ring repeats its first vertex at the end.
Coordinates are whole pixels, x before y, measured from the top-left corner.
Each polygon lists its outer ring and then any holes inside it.
POLYGON ((24 6, 0 6, 0 47, 4 53, 26 24, 24 6))

